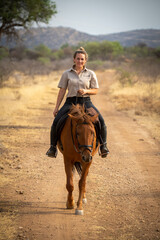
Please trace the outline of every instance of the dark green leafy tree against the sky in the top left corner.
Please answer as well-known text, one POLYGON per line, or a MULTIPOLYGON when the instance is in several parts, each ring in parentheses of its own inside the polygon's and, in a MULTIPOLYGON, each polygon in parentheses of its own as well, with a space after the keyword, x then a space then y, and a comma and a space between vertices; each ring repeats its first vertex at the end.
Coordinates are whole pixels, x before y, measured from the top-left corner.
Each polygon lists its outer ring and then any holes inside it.
POLYGON ((1 0, 0 38, 2 34, 17 36, 18 28, 28 29, 34 22, 47 24, 56 13, 52 0, 1 0))

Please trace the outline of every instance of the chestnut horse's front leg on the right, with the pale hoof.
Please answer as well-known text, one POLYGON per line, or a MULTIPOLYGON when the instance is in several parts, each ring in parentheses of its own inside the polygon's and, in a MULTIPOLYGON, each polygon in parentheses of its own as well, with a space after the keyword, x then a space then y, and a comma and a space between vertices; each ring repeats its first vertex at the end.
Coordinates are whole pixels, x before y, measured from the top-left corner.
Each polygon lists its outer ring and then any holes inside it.
POLYGON ((86 186, 86 178, 88 175, 89 171, 89 165, 85 165, 83 170, 82 170, 82 176, 81 179, 79 180, 79 198, 77 202, 77 209, 75 211, 76 215, 83 215, 83 199, 85 198, 85 186, 86 186))

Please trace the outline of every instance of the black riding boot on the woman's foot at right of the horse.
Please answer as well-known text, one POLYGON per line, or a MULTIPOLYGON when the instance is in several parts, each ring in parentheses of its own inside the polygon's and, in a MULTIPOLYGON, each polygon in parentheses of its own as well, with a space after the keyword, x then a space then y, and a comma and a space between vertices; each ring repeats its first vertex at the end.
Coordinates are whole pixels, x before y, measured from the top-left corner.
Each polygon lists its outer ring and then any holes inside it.
POLYGON ((100 130, 100 151, 101 157, 107 157, 109 150, 107 148, 107 128, 106 126, 102 126, 100 130))

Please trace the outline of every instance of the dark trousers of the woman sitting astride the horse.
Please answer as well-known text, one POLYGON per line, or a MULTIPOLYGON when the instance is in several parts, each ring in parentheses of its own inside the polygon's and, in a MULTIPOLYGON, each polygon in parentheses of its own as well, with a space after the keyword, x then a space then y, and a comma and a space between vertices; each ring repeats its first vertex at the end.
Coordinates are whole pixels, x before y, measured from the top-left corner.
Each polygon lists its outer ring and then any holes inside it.
POLYGON ((98 111, 98 109, 93 105, 93 103, 91 102, 90 97, 68 97, 64 103, 64 105, 62 106, 62 108, 58 111, 52 127, 51 127, 51 145, 56 146, 57 145, 57 140, 58 140, 58 136, 57 136, 57 131, 56 131, 56 126, 58 121, 60 120, 60 118, 63 116, 64 120, 65 118, 68 118, 68 113, 70 111, 70 108, 72 106, 72 104, 76 105, 76 104, 80 104, 80 105, 84 105, 85 109, 87 108, 94 108, 96 110, 96 112, 99 113, 98 118, 100 121, 100 125, 101 125, 101 129, 100 129, 100 143, 106 143, 106 138, 107 138, 107 128, 104 122, 104 119, 102 117, 102 115, 100 114, 100 112, 98 111))

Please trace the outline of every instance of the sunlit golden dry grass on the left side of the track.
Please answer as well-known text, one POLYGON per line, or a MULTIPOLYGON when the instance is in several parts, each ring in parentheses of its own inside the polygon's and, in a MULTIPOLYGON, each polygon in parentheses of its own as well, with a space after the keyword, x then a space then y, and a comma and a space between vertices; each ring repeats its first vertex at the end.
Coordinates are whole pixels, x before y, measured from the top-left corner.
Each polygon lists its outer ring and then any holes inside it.
POLYGON ((3 125, 10 124, 23 124, 28 125, 25 118, 18 119, 16 112, 28 112, 28 107, 34 107, 34 104, 43 104, 45 91, 57 91, 57 82, 61 73, 52 72, 46 76, 25 76, 22 73, 14 72, 0 88, 0 114, 3 125), (24 120, 23 120, 24 119, 24 120))

